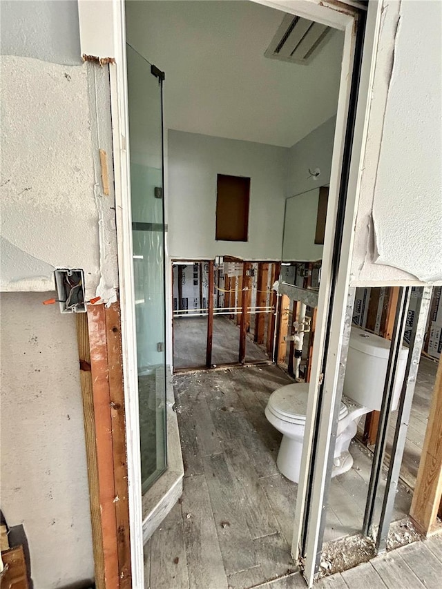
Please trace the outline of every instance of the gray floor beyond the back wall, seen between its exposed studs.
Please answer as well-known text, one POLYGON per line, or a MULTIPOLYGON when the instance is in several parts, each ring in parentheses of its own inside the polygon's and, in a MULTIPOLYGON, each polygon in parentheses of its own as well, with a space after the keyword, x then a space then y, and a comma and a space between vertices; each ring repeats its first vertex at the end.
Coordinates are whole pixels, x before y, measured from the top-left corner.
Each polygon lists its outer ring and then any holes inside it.
MULTIPOLYGON (((206 364, 207 318, 178 317, 173 319, 173 367, 203 367, 206 364)), ((240 328, 226 316, 213 318, 212 364, 238 362, 240 328)), ((267 360, 263 347, 251 337, 246 340, 246 360, 267 360)))

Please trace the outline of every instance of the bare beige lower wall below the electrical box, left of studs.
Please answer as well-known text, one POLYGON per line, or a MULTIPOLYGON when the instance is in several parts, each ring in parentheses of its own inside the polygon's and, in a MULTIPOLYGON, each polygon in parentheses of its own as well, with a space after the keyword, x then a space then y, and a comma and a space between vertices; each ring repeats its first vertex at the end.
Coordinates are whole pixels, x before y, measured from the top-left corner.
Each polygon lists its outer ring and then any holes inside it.
POLYGON ((35 589, 78 586, 94 565, 75 316, 2 293, 1 334, 1 509, 35 589))

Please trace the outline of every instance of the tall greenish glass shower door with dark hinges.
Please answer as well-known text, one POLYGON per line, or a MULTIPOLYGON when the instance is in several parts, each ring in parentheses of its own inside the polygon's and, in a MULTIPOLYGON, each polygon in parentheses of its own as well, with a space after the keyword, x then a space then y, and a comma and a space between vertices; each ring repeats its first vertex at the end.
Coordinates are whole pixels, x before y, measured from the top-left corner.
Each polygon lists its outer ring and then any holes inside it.
POLYGON ((162 81, 127 45, 142 492, 166 468, 162 81))

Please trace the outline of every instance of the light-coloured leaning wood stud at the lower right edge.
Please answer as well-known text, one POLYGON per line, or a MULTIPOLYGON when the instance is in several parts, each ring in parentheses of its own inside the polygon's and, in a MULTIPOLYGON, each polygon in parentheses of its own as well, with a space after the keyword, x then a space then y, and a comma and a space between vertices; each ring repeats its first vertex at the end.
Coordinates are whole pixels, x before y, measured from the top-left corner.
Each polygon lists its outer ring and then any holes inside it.
POLYGON ((442 498, 442 358, 434 383, 430 415, 410 509, 416 528, 425 535, 436 531, 442 498))

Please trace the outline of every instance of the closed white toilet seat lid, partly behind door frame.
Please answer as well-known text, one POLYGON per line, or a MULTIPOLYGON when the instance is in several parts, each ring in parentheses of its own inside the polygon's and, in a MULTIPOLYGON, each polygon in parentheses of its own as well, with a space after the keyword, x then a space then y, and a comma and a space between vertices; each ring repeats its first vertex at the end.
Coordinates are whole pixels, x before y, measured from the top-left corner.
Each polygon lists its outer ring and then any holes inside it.
MULTIPOLYGON (((299 423, 305 421, 309 383, 293 383, 277 389, 270 395, 269 409, 284 421, 299 423)), ((339 419, 347 415, 347 406, 340 403, 339 419)))

